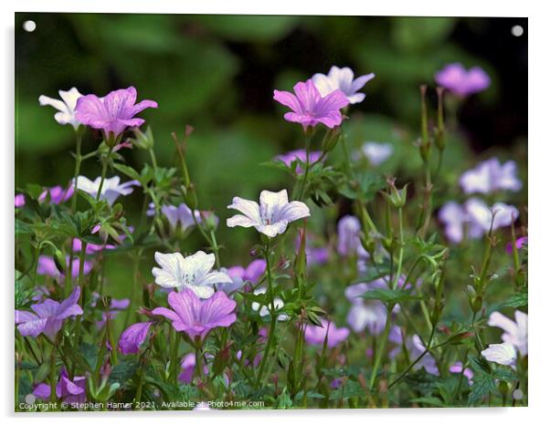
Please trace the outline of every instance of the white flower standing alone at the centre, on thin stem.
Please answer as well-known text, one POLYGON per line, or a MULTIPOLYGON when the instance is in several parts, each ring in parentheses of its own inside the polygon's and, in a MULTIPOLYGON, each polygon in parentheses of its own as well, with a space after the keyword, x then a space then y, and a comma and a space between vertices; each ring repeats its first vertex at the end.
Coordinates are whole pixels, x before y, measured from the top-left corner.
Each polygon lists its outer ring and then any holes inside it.
POLYGON ((236 196, 227 208, 242 213, 228 218, 227 227, 254 227, 269 237, 284 233, 289 223, 310 216, 305 203, 289 202, 285 189, 280 192, 261 191, 259 203, 236 196))

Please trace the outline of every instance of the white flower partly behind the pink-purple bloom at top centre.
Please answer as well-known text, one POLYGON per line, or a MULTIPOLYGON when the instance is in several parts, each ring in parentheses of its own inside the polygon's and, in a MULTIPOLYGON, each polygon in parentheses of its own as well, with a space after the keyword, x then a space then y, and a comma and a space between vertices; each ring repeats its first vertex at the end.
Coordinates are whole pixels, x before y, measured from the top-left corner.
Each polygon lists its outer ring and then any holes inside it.
POLYGON ((349 67, 331 67, 328 75, 315 74, 312 81, 323 98, 334 90, 340 90, 350 103, 359 103, 365 98, 365 93, 357 93, 357 91, 373 78, 375 74, 354 79, 354 71, 349 67))

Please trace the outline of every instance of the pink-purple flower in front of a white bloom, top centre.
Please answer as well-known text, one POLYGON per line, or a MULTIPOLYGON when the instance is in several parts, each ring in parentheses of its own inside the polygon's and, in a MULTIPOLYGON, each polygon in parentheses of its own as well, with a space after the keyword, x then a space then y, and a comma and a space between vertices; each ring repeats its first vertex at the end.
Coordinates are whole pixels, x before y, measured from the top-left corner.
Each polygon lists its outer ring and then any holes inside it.
POLYGON ((292 109, 292 112, 284 114, 287 121, 299 122, 303 130, 319 123, 333 129, 342 123, 340 109, 349 104, 342 91, 336 89, 323 98, 313 81, 308 79, 305 83, 297 83, 294 93, 295 95, 288 91, 273 91, 275 100, 292 109))

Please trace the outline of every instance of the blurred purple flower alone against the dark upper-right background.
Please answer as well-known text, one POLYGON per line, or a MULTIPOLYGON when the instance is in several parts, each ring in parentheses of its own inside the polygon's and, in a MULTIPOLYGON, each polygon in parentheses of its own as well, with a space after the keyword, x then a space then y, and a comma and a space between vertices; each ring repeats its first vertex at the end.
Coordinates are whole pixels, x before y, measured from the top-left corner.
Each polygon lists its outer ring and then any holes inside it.
POLYGON ((439 86, 461 98, 483 91, 491 84, 491 78, 481 67, 466 70, 459 63, 446 65, 436 73, 435 78, 439 86))

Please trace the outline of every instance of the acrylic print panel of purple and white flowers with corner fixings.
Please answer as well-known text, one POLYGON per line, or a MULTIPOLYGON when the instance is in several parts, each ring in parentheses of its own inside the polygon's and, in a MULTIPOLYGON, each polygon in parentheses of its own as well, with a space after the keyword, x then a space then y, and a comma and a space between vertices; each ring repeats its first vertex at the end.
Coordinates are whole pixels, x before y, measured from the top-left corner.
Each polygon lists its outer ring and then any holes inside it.
POLYGON ((16 411, 526 406, 526 52, 16 14, 16 411))

